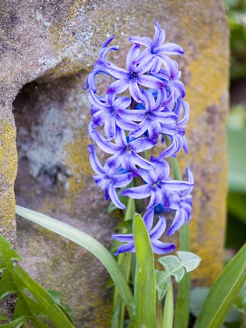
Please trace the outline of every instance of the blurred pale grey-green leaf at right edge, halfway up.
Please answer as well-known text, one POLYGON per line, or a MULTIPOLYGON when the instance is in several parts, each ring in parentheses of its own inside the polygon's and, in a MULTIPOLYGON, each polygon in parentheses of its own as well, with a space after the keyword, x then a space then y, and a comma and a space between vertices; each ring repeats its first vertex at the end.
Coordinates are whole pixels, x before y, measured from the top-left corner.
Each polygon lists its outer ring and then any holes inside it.
POLYGON ((229 159, 229 188, 234 192, 246 192, 246 130, 227 129, 228 159, 229 159))

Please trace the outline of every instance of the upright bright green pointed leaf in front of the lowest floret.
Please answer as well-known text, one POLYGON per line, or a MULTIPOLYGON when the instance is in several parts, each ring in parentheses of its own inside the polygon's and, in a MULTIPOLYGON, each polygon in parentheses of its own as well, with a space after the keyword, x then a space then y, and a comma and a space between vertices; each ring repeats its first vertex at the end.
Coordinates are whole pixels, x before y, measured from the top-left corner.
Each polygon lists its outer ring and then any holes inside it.
POLYGON ((135 214, 133 218, 133 237, 136 250, 134 284, 136 326, 156 328, 154 254, 149 233, 139 214, 135 214))

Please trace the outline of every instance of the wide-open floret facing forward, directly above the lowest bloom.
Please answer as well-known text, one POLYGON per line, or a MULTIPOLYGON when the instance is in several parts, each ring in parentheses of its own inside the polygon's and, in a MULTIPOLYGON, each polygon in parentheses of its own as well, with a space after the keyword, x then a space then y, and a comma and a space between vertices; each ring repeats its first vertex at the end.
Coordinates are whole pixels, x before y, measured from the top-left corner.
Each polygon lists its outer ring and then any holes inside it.
POLYGON ((170 168, 167 161, 159 161, 151 157, 155 163, 155 170, 139 169, 140 176, 146 182, 145 185, 125 189, 121 192, 122 196, 129 196, 134 199, 142 199, 150 196, 150 203, 147 209, 164 204, 169 208, 171 204, 170 191, 181 191, 191 186, 193 183, 169 178, 170 168))

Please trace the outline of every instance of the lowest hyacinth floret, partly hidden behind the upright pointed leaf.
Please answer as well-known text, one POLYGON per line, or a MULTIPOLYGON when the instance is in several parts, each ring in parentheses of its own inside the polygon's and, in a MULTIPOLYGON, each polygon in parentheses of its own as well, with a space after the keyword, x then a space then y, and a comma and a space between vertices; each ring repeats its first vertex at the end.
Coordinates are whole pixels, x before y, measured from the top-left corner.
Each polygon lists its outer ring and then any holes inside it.
MULTIPOLYGON (((152 208, 148 210, 143 217, 144 222, 146 224, 146 228, 149 232, 153 252, 156 254, 167 254, 173 252, 176 248, 176 246, 173 243, 165 243, 158 240, 166 230, 165 218, 163 218, 163 216, 159 216, 159 221, 157 222, 156 226, 151 230, 151 227, 153 225, 153 215, 154 215, 154 209, 152 208)), ((118 241, 126 242, 126 244, 119 246, 118 250, 114 253, 115 256, 118 255, 119 253, 135 252, 133 234, 126 234, 126 235, 116 234, 113 235, 112 238, 118 241)))

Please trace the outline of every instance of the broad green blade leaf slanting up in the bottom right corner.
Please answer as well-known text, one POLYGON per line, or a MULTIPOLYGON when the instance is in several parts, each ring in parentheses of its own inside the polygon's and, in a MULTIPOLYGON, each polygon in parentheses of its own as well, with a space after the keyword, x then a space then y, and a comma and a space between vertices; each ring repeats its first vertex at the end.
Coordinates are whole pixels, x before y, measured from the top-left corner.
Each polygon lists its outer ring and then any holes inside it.
POLYGON ((194 328, 220 327, 246 280, 246 243, 211 287, 194 328))

